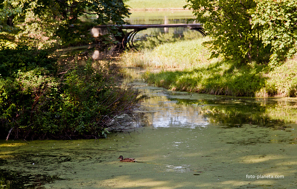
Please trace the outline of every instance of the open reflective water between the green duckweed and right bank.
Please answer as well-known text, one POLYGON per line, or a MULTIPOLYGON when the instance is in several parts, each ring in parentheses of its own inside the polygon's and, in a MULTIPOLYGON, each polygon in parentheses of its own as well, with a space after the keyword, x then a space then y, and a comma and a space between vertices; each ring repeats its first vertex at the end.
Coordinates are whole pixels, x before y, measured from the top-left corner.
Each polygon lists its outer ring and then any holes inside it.
POLYGON ((136 84, 147 95, 143 105, 150 107, 151 126, 223 128, 245 124, 285 130, 297 124, 296 98, 247 98, 177 92, 136 84))

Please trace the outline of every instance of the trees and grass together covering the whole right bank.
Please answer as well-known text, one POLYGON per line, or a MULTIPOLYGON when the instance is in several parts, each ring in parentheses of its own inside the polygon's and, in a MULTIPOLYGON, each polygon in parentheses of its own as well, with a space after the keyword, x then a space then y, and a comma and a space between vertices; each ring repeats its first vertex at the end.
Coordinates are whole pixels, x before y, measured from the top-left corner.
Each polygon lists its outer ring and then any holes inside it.
MULTIPOLYGON (((128 4, 133 2, 138 1, 128 4)), ((296 97, 297 6, 295 0, 289 2, 290 6, 287 2, 217 1, 210 6, 189 0, 184 8, 193 10, 194 20, 204 24, 209 36, 129 52, 124 65, 160 68, 157 73, 146 72, 143 79, 170 90, 296 97), (270 13, 264 9, 267 4, 270 13)))

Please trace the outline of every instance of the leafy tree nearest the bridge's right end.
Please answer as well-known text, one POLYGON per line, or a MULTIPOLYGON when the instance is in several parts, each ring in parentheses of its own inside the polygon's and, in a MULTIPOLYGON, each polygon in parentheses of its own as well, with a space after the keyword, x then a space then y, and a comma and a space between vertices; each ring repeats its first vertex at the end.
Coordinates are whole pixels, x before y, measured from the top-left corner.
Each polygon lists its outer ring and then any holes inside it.
POLYGON ((252 28, 249 11, 253 0, 187 0, 195 19, 202 23, 208 35, 213 56, 223 54, 248 62, 256 59, 263 45, 258 28, 252 28))

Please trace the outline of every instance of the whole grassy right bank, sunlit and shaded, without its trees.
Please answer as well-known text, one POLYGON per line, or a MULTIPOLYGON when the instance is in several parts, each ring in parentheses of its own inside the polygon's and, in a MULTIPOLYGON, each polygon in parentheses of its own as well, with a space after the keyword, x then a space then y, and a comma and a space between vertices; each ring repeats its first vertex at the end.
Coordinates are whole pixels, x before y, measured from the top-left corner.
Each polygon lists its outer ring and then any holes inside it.
POLYGON ((161 68, 160 72, 146 72, 143 79, 171 90, 230 96, 297 96, 296 59, 273 71, 256 63, 241 65, 236 61, 209 60, 209 51, 202 44, 204 40, 207 38, 126 53, 123 65, 161 68))

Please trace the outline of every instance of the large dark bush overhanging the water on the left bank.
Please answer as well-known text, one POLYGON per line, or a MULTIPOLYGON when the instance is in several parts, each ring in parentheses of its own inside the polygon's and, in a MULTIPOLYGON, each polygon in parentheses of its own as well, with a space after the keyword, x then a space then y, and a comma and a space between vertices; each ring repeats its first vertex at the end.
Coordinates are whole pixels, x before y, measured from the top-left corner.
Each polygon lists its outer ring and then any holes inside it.
POLYGON ((0 120, 5 135, 99 138, 108 132, 106 128, 126 128, 127 123, 117 120, 119 116, 135 115, 138 92, 118 86, 110 63, 62 66, 53 49, 20 45, 2 50, 0 57, 7 53, 0 68, 0 120))

